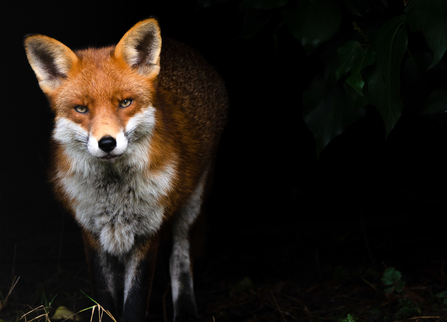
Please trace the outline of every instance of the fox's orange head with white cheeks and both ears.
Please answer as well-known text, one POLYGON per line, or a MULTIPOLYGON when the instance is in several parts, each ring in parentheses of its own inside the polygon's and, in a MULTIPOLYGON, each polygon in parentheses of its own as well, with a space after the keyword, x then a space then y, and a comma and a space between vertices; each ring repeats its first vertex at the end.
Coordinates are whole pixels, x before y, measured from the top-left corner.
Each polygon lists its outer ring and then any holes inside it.
POLYGON ((56 115, 53 137, 68 153, 111 162, 150 136, 161 51, 155 19, 137 23, 112 47, 72 51, 30 35, 25 49, 56 115))

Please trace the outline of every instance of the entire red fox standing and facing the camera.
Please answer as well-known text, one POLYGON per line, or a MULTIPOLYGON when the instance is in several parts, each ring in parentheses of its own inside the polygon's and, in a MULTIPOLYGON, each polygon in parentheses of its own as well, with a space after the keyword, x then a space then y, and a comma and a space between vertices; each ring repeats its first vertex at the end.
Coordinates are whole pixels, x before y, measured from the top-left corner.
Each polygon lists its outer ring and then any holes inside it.
POLYGON ((116 46, 72 51, 43 35, 24 45, 55 114, 51 179, 82 228, 95 298, 144 321, 169 225, 174 321, 195 320, 189 234, 226 123, 221 77, 190 47, 162 45, 155 18, 116 46))

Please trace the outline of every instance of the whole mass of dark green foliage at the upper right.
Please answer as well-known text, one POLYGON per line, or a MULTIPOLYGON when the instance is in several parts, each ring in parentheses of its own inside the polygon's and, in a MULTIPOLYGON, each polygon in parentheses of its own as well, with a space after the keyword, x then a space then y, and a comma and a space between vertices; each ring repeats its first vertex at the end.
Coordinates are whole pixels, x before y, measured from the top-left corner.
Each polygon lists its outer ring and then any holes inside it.
MULTIPOLYGON (((198 3, 205 7, 226 1, 198 3)), ((380 113, 387 137, 411 102, 402 97, 402 92, 412 91, 402 88, 402 80, 409 76, 403 62, 412 60, 417 77, 427 82, 428 70, 440 65, 447 50, 444 0, 239 2, 245 15, 242 38, 255 37, 265 29, 274 34, 286 25, 308 55, 321 58, 325 70, 315 75, 303 94, 303 117, 315 137, 317 155, 371 106, 380 113), (425 68, 417 61, 416 51, 431 57, 425 68)), ((439 81, 436 85, 430 84, 431 94, 419 91, 425 105, 412 107, 412 111, 436 114, 447 110, 447 90, 438 87, 442 85, 439 81)))

